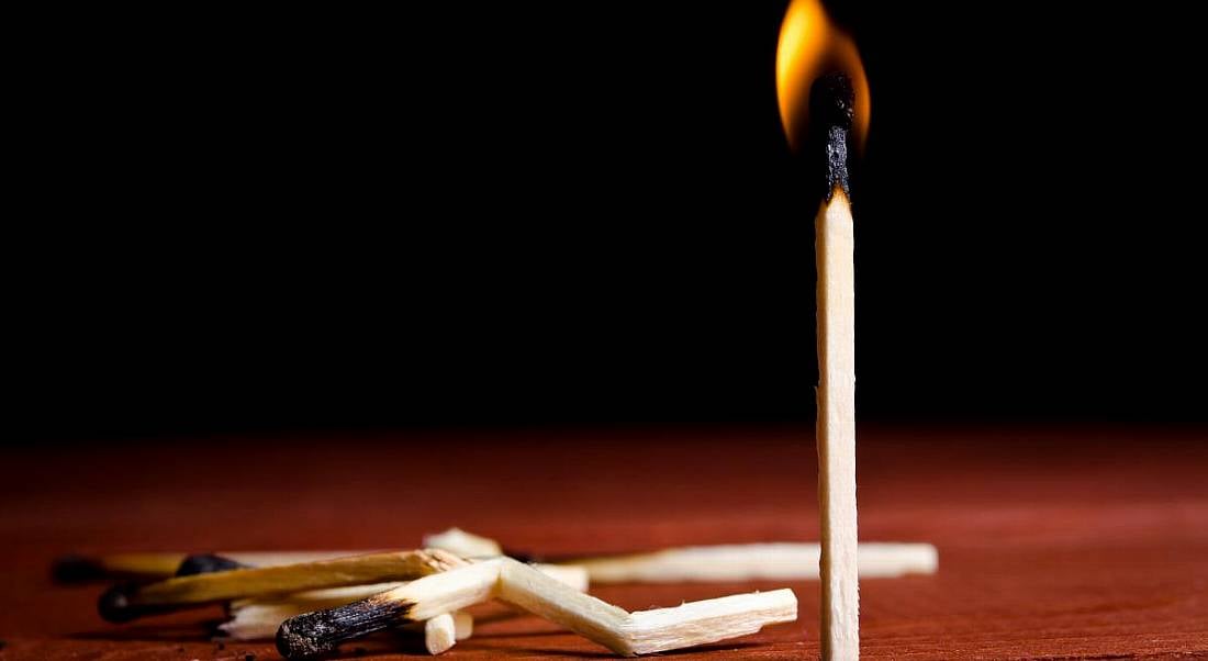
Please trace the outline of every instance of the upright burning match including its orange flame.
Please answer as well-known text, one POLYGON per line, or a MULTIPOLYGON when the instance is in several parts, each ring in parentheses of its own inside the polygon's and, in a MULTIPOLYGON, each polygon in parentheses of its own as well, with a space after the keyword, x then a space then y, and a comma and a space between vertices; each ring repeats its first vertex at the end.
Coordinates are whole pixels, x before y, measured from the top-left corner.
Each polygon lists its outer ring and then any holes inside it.
MULTIPOLYGON (((855 508, 855 230, 848 155, 863 138, 869 91, 855 45, 815 0, 794 0, 780 28, 777 92, 785 133, 820 166, 818 260, 818 500, 823 659, 860 656, 855 508), (805 91, 808 89, 808 93, 805 91)), ((813 181, 809 181, 813 185, 813 181)))

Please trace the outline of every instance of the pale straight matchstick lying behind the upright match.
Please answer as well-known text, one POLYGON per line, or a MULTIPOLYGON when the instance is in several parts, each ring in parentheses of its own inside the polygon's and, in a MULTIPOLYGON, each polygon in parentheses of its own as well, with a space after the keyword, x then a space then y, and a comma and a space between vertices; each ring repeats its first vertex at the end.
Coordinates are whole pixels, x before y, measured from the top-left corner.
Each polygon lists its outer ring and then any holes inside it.
MULTIPOLYGON (((819 578, 818 544, 767 543, 684 546, 651 553, 580 558, 592 582, 737 582, 819 578)), ((860 578, 934 574, 939 553, 930 544, 863 543, 860 578)))

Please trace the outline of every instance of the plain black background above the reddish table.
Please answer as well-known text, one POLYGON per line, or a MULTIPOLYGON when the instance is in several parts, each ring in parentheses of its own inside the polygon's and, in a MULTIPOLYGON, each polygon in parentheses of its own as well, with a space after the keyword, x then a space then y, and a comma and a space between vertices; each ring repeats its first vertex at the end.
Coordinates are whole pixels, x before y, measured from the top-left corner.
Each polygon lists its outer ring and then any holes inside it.
MULTIPOLYGON (((813 417, 786 2, 21 23, 12 439, 813 417)), ((1191 10, 834 4, 864 421, 1203 421, 1191 10)))

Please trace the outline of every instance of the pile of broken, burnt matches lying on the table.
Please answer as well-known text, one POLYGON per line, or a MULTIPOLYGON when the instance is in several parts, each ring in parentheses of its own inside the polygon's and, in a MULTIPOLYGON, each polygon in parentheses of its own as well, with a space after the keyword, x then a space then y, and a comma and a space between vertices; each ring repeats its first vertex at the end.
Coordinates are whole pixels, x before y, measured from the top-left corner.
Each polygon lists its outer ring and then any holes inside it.
MULTIPOLYGON (((818 553, 817 544, 772 543, 524 563, 494 540, 452 528, 410 551, 70 556, 56 564, 56 576, 121 580, 99 601, 110 622, 223 604, 219 639, 275 638, 286 659, 329 654, 383 630, 422 637, 430 654, 440 654, 472 633, 466 609, 493 599, 634 655, 794 621, 796 597, 782 588, 629 613, 587 595, 592 582, 817 579, 818 553)), ((860 553, 865 575, 930 573, 936 566, 927 544, 861 545, 860 553)))

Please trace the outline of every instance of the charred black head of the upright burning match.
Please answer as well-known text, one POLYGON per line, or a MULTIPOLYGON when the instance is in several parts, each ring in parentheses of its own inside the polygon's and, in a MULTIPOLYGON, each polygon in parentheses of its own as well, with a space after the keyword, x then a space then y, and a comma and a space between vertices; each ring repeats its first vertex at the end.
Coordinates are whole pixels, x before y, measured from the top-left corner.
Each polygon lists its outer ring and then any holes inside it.
POLYGON ((855 120, 855 91, 852 79, 831 73, 819 76, 809 88, 809 135, 807 157, 823 170, 826 190, 824 199, 830 199, 835 189, 852 197, 848 172, 848 146, 852 124, 855 120))

